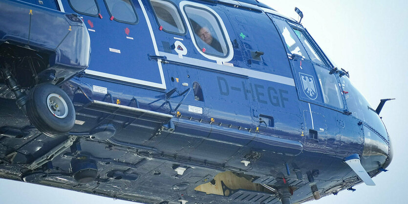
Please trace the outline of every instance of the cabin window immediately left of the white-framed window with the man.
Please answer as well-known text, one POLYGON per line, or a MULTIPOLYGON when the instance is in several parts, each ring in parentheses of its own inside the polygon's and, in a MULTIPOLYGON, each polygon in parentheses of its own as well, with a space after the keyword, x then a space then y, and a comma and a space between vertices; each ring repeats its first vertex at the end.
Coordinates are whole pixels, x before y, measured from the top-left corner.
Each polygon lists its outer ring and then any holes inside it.
POLYGON ((184 23, 174 4, 167 0, 150 0, 154 15, 163 30, 170 33, 184 34, 184 23))

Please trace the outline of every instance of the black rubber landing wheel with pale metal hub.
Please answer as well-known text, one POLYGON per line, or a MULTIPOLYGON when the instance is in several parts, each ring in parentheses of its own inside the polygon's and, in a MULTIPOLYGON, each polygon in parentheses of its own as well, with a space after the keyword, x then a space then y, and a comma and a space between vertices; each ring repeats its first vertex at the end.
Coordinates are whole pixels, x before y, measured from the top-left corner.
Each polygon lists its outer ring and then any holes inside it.
POLYGON ((68 133, 75 124, 75 109, 68 95, 53 84, 39 84, 29 93, 27 116, 43 134, 58 137, 68 133))

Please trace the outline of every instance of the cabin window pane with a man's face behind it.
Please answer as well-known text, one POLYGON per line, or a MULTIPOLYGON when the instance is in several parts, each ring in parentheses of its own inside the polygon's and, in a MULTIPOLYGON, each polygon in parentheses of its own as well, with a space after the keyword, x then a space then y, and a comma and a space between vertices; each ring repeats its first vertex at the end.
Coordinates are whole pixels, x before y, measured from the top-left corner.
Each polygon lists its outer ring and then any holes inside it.
POLYGON ((193 6, 184 7, 190 22, 198 48, 205 54, 227 57, 229 47, 215 15, 204 9, 193 6))

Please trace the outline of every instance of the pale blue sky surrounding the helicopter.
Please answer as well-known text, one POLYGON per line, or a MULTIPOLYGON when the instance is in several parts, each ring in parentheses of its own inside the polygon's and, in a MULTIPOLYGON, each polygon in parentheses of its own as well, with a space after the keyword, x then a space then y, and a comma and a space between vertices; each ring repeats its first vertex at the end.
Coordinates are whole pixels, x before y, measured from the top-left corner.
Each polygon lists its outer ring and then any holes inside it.
MULTIPOLYGON (((394 159, 389 171, 373 178, 376 186, 360 184, 310 204, 405 203, 408 183, 408 1, 405 0, 263 0, 286 16, 297 19, 294 7, 325 53, 350 72, 350 79, 376 107, 382 98, 397 98, 381 116, 391 137, 394 159)), ((132 204, 58 188, 0 180, 4 204, 132 204)))

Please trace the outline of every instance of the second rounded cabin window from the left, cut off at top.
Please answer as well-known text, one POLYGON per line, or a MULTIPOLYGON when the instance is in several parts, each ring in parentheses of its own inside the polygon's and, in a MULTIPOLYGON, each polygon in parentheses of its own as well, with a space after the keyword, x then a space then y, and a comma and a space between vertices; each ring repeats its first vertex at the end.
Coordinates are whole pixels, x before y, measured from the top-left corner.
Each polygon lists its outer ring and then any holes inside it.
POLYGON ((129 0, 105 0, 109 14, 117 22, 136 24, 138 19, 129 0))

